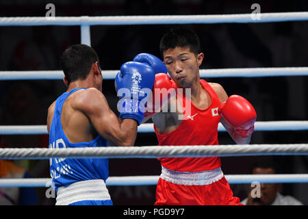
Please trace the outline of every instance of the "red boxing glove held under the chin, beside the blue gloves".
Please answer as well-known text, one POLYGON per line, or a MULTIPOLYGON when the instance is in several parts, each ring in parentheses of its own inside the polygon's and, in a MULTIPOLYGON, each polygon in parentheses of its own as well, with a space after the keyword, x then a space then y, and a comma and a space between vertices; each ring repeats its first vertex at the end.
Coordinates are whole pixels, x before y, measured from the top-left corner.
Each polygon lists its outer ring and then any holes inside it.
POLYGON ((177 86, 175 81, 165 73, 158 73, 155 75, 155 81, 152 88, 152 96, 146 103, 146 112, 144 117, 151 116, 155 110, 159 110, 170 98, 176 94, 177 86))

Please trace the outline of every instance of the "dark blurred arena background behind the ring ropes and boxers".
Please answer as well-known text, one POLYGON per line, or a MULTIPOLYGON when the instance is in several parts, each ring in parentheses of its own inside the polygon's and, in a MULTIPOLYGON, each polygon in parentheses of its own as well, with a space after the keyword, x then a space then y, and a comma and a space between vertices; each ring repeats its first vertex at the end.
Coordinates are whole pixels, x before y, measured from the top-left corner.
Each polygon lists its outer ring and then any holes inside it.
MULTIPOLYGON (((0 16, 45 16, 47 3, 55 5, 55 16, 195 15, 249 14, 259 3, 261 13, 307 12, 308 1, 0 1, 0 16)), ((103 70, 118 70, 138 53, 159 54, 159 40, 171 25, 94 25, 91 46, 97 51, 103 70)), ((270 68, 308 66, 308 21, 277 23, 218 23, 185 25, 201 40, 205 59, 201 69, 270 68)), ((60 55, 71 44, 81 42, 79 26, 0 26, 0 71, 60 70, 60 55)), ((205 78, 206 79, 206 78, 205 78)), ((257 121, 308 120, 308 77, 217 77, 227 94, 239 94, 250 101, 257 121)), ((66 91, 62 80, 0 80, 0 125, 46 125, 47 109, 66 91)), ((114 80, 103 81, 112 110, 118 114, 114 80)), ((152 120, 149 123, 153 123, 152 120)), ((185 136, 183 136, 185 138, 185 136)), ((218 133, 220 144, 235 144, 227 132, 218 133)), ((2 148, 48 148, 47 135, 2 135, 2 148)), ((307 143, 307 131, 255 131, 251 144, 307 143)), ((138 133, 136 146, 157 145, 155 133, 138 133)), ((308 172, 304 155, 272 157, 280 173, 308 172)), ((224 175, 251 174, 259 156, 222 157, 224 175)), ((47 178, 49 160, 14 160, 31 178, 47 178)), ((110 177, 159 175, 157 159, 110 159, 110 177)), ((1 166, 0 166, 0 177, 1 166)), ((109 186, 114 205, 153 205, 155 185, 109 186)), ((248 184, 231 184, 235 196, 246 198, 248 184)), ((8 188, 0 188, 5 190, 8 188)), ((34 188, 36 205, 54 205, 47 188, 34 188)), ((294 196, 308 205, 307 183, 284 183, 281 194, 294 196)), ((32 197, 33 198, 33 197, 32 197)), ((32 199, 31 198, 31 199, 32 199)), ((0 199, 1 200, 1 199, 0 199)), ((34 200, 35 197, 34 197, 34 200)), ((1 201, 0 201, 1 204, 1 201)), ((18 203, 15 203, 18 205, 18 203)))

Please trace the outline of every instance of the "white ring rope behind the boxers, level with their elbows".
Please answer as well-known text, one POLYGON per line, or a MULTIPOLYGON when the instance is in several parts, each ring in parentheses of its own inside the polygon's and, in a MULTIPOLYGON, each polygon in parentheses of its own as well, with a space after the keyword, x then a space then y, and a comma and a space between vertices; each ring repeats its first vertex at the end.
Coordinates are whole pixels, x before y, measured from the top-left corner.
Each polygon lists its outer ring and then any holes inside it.
MULTIPOLYGON (((308 130, 308 121, 269 121, 255 122, 255 131, 301 131, 308 130)), ((218 131, 226 131, 221 123, 218 131)), ((154 132, 153 123, 138 127, 139 133, 154 132)), ((44 135, 48 134, 46 125, 0 125, 0 135, 44 135)))

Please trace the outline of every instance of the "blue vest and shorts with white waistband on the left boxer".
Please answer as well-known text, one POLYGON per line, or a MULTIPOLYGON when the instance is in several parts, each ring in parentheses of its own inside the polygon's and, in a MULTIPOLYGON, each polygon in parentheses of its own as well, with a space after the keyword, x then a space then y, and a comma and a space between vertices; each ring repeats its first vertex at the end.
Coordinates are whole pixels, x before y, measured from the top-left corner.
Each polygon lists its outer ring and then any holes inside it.
MULTIPOLYGON (((61 112, 70 94, 86 88, 64 92, 55 103, 55 111, 49 131, 49 148, 81 148, 108 146, 97 136, 90 142, 71 143, 62 129, 61 112)), ((109 176, 108 159, 50 159, 53 188, 57 191, 56 205, 113 205, 105 181, 109 176)))

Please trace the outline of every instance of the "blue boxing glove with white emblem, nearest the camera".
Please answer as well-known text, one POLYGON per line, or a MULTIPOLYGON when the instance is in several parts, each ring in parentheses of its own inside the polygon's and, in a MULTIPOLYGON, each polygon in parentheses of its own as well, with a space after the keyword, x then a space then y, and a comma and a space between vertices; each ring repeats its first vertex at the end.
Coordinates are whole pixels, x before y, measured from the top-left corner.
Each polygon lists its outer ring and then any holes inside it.
POLYGON ((125 62, 116 75, 115 86, 119 96, 118 111, 120 119, 132 118, 141 124, 153 83, 155 71, 148 64, 125 62))

